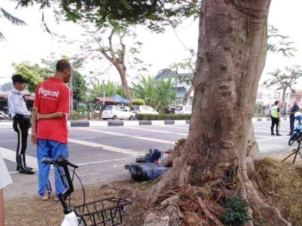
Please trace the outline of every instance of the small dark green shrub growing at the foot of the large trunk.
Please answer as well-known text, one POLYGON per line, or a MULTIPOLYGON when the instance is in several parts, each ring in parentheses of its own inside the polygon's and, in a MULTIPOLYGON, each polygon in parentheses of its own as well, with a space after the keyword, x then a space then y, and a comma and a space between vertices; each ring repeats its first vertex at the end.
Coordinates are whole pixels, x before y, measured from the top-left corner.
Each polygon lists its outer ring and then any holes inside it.
POLYGON ((240 226, 252 219, 248 212, 249 203, 245 199, 230 196, 222 207, 224 212, 220 216, 220 220, 224 225, 240 226))

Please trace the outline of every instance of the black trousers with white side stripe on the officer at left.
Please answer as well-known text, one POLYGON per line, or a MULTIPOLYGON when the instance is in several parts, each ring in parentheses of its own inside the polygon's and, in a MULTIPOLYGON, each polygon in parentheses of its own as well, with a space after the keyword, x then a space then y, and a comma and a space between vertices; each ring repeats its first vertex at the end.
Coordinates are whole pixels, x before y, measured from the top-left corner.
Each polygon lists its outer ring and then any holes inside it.
POLYGON ((24 155, 27 147, 30 118, 17 114, 13 119, 13 128, 18 134, 18 145, 16 155, 24 155))

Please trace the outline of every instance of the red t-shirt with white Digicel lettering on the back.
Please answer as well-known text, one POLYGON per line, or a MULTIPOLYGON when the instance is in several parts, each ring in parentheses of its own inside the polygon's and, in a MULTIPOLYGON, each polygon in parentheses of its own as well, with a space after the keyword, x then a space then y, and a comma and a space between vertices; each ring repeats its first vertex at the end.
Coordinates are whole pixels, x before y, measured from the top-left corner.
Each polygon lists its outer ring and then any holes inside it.
MULTIPOLYGON (((50 77, 35 90, 34 107, 42 115, 53 112, 69 114, 70 89, 60 78, 50 77)), ((67 116, 67 115, 66 115, 67 116)), ((42 119, 37 122, 37 138, 67 143, 67 117, 42 119)))

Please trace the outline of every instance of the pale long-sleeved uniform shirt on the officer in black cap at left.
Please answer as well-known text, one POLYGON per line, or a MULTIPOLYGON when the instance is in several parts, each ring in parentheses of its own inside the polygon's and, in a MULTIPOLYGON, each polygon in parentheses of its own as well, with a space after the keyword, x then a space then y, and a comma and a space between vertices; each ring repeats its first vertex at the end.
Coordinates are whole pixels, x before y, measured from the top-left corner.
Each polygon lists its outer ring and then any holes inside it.
POLYGON ((18 89, 13 88, 12 92, 9 94, 8 103, 12 117, 16 116, 16 114, 30 116, 23 94, 18 89))

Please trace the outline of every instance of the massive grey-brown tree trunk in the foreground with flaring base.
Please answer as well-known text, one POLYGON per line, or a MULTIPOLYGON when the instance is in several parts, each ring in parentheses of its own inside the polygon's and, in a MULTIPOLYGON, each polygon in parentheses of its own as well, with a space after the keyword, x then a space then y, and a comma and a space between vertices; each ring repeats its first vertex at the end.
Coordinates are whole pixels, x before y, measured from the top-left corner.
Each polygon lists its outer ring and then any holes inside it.
POLYGON ((251 119, 266 59, 269 4, 202 1, 189 134, 173 168, 153 188, 153 200, 175 186, 222 184, 257 206, 267 225, 290 225, 259 198, 248 176, 254 167, 247 156, 255 150, 249 147, 251 119))

